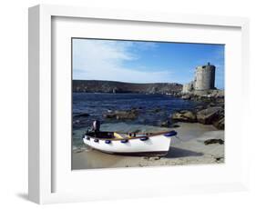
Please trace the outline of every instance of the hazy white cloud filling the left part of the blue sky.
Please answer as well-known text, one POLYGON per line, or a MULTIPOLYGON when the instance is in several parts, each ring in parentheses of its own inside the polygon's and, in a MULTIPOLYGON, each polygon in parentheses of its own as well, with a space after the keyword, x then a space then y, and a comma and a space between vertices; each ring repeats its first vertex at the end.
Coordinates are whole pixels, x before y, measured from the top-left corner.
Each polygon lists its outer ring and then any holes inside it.
POLYGON ((170 70, 147 72, 145 66, 138 69, 124 65, 127 61, 139 59, 138 50, 155 47, 154 43, 73 39, 73 78, 133 83, 169 82, 170 70))

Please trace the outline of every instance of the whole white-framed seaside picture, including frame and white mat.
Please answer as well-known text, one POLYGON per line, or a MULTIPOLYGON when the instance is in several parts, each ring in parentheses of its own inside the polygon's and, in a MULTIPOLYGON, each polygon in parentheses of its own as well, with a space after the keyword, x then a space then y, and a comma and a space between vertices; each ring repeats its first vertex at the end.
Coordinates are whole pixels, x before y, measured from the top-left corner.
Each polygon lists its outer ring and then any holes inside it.
POLYGON ((241 17, 29 8, 29 199, 246 189, 234 113, 249 99, 248 30, 241 17))

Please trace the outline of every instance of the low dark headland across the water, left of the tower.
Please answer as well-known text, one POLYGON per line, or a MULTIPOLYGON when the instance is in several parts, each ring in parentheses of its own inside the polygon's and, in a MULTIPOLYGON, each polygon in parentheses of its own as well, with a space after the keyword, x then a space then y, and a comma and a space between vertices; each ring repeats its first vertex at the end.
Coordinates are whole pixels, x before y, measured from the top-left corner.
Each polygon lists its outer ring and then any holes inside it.
POLYGON ((177 83, 125 83, 101 80, 73 80, 73 92, 77 93, 135 93, 135 94, 175 94, 182 91, 177 83))

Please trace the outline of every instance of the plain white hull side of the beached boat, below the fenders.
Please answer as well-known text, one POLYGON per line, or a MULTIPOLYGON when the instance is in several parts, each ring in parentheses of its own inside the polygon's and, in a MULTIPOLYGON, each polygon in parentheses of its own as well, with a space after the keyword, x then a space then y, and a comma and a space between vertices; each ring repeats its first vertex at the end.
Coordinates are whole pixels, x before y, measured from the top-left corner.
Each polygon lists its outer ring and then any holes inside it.
POLYGON ((126 143, 122 143, 120 140, 112 140, 109 144, 106 143, 106 140, 95 137, 89 137, 88 140, 85 136, 83 140, 88 146, 104 153, 141 156, 168 154, 171 137, 161 134, 150 136, 146 141, 141 141, 139 138, 130 139, 126 143))

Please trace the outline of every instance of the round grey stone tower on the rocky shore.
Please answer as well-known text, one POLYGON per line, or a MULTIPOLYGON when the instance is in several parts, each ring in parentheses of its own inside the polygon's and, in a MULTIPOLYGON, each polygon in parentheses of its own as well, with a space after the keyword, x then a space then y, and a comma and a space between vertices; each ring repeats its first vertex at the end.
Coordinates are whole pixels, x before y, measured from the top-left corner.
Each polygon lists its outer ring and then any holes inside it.
POLYGON ((209 90, 215 88, 215 66, 202 65, 196 68, 194 89, 195 90, 209 90))

